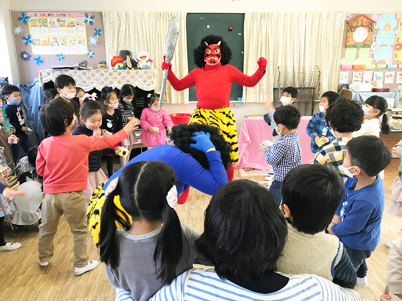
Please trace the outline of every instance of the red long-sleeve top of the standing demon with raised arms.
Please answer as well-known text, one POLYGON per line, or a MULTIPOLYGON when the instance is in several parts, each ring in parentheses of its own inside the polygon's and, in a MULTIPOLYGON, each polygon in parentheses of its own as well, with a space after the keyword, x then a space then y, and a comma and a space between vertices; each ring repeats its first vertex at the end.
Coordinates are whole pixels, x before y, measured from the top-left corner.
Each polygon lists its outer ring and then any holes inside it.
POLYGON ((259 69, 247 76, 236 67, 226 64, 207 65, 195 68, 183 79, 179 80, 169 69, 168 80, 176 91, 181 91, 195 85, 197 93, 197 108, 215 110, 229 106, 232 82, 246 87, 254 87, 265 73, 259 69))

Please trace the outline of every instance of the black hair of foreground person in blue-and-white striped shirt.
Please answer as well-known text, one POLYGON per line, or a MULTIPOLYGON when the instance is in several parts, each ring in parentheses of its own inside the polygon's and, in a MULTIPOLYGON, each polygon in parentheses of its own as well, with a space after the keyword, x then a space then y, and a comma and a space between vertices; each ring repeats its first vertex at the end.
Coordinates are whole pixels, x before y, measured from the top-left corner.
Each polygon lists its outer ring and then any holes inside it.
POLYGON ((213 195, 196 245, 220 278, 260 281, 275 272, 286 235, 285 217, 269 191, 250 180, 235 180, 213 195))

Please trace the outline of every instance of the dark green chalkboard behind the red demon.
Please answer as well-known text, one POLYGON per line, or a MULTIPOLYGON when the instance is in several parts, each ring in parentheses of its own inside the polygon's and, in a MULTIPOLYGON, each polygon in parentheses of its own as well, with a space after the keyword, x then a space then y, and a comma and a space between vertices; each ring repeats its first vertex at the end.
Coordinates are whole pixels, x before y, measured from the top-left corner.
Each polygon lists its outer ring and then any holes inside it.
MULTIPOLYGON (((233 54, 230 65, 243 72, 244 14, 188 13, 186 26, 189 72, 197 68, 193 62, 193 50, 199 45, 201 39, 209 34, 220 35, 224 38, 233 54), (232 27, 232 31, 229 31, 229 27, 232 27)), ((243 86, 232 83, 230 100, 237 100, 238 97, 242 97, 242 94, 243 86)), ((189 88, 189 100, 197 101, 194 86, 189 88)))

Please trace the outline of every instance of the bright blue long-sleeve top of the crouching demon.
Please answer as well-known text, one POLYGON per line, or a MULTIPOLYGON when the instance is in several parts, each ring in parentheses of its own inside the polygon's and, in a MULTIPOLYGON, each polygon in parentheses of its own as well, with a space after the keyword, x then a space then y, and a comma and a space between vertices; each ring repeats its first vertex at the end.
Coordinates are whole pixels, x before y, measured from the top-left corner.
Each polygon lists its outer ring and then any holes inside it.
MULTIPOLYGON (((219 151, 207 152, 206 155, 209 163, 209 171, 203 168, 190 154, 183 152, 178 147, 162 144, 139 154, 131 159, 127 165, 144 160, 164 162, 168 164, 176 174, 176 189, 178 195, 189 188, 189 186, 207 195, 213 195, 219 188, 228 183, 228 176, 222 164, 221 153, 219 151)), ((120 168, 109 178, 104 189, 106 189, 111 180, 120 175, 125 166, 120 168)))

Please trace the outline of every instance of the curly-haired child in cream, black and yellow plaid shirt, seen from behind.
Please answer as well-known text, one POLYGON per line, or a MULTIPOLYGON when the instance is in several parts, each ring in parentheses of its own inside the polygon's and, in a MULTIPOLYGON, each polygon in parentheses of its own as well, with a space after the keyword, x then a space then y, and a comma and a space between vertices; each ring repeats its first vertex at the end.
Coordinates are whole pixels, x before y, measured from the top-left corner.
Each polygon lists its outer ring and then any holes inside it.
POLYGON ((344 97, 336 100, 326 110, 325 120, 336 140, 322 147, 314 163, 334 166, 342 176, 343 182, 348 178, 342 168, 346 144, 352 139, 352 133, 361 128, 363 114, 359 102, 344 97))

